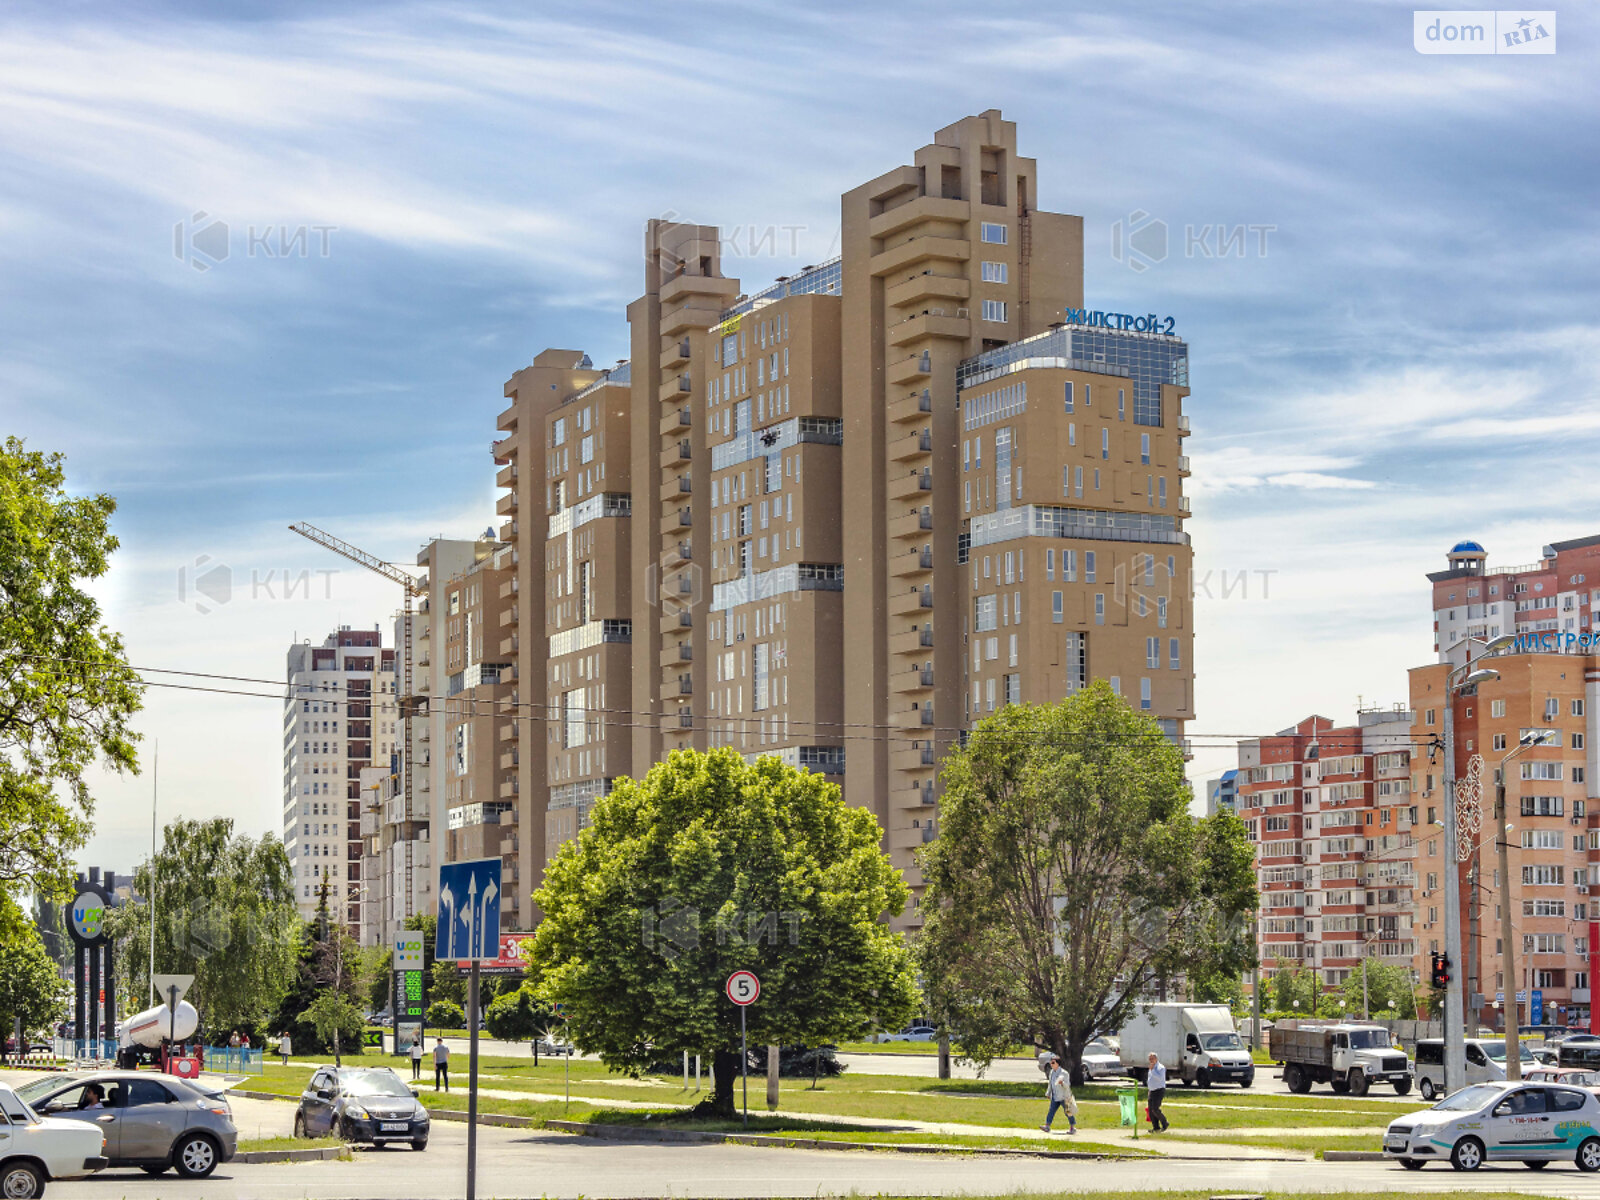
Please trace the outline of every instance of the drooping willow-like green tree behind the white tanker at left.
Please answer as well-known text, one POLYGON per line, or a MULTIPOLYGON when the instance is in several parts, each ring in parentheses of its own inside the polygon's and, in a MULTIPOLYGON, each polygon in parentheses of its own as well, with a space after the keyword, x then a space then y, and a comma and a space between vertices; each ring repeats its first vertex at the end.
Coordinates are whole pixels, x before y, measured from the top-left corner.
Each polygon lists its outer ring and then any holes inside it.
POLYGON ((128 992, 150 994, 150 906, 155 970, 192 974, 186 997, 205 1032, 254 1029, 294 979, 301 918, 283 842, 234 834, 227 818, 173 821, 155 859, 133 872, 144 904, 107 914, 128 992))

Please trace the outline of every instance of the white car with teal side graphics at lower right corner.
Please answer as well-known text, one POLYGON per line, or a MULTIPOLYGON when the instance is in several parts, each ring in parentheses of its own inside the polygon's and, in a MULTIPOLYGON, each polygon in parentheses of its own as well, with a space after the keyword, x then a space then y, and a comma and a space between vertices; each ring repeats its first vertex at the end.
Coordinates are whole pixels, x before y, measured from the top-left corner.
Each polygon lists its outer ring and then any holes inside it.
POLYGON ((1558 1083, 1474 1083, 1390 1122, 1384 1155, 1408 1171, 1445 1160, 1458 1171, 1485 1162, 1533 1170, 1574 1162, 1579 1171, 1600 1171, 1600 1098, 1558 1083))

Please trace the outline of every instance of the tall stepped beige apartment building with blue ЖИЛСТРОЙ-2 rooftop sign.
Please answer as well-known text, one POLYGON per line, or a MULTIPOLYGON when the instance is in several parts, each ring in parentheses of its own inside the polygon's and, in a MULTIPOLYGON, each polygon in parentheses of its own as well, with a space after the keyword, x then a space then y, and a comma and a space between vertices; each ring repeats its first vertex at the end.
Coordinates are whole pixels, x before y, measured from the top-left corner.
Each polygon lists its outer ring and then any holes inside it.
POLYGON ((651 221, 630 358, 507 382, 523 888, 678 747, 826 773, 915 886, 939 758, 997 707, 1107 678, 1181 744, 1187 347, 1085 307, 1082 219, 1037 192, 990 110, 846 192, 838 259, 755 291, 717 227, 651 221))

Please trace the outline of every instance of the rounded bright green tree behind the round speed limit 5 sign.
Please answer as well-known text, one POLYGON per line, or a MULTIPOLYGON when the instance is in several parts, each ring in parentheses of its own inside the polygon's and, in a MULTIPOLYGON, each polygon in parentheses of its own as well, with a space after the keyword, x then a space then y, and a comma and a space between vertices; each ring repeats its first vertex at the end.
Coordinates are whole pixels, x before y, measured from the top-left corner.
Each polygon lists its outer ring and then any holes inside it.
POLYGON ((536 898, 530 976, 565 1006, 571 1040, 616 1070, 712 1054, 706 1107, 731 1115, 733 971, 762 981, 750 1045, 856 1038, 915 1011, 906 946, 885 925, 907 888, 880 838, 821 774, 675 750, 621 779, 562 846, 536 898))

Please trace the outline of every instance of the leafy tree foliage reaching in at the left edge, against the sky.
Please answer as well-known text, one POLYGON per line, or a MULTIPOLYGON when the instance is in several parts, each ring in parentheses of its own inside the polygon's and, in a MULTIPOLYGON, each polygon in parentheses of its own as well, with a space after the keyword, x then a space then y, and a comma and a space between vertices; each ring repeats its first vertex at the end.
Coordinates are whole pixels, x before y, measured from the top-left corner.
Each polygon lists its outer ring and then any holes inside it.
POLYGON ((69 496, 61 454, 0 450, 0 898, 11 925, 34 891, 66 899, 90 835, 85 771, 138 771, 142 688, 83 584, 117 539, 110 496, 69 496))

